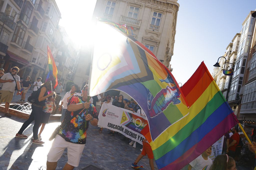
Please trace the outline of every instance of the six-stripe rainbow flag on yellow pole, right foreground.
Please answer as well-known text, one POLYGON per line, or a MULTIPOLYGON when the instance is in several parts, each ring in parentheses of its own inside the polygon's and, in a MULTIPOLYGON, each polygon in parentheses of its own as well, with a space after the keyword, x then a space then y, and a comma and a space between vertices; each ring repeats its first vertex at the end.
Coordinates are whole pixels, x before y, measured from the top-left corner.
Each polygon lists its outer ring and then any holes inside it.
MULTIPOLYGON (((189 105, 188 116, 149 141, 159 169, 181 169, 239 123, 204 62, 181 90, 189 105)), ((148 127, 141 133, 150 139, 148 127)))

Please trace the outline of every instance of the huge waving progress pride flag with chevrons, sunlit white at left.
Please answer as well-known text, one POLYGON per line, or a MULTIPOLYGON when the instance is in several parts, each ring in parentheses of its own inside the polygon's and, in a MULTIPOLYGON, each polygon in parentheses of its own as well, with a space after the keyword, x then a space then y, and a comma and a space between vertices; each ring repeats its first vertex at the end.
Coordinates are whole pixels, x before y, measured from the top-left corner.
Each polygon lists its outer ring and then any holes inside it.
POLYGON ((89 95, 110 89, 129 94, 144 110, 155 140, 188 114, 187 103, 173 75, 153 53, 112 26, 98 23, 89 95))

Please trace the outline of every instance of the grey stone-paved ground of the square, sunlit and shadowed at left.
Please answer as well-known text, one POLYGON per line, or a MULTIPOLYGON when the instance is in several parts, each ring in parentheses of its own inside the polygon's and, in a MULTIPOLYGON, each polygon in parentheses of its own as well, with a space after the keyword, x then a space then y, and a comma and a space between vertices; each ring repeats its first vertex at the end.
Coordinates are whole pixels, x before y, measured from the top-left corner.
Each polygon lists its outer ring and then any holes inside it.
MULTIPOLYGON (((16 138, 15 134, 24 123, 25 119, 15 116, 7 118, 0 113, 0 169, 46 169, 46 155, 51 147, 48 139, 53 129, 59 124, 52 122, 45 126, 42 133, 43 146, 31 143, 33 124, 24 131, 28 139, 16 138)), ((97 131, 99 128, 90 126, 87 132, 87 143, 83 150, 79 167, 83 169, 92 164, 102 169, 132 169, 131 164, 140 154, 141 145, 136 148, 121 141, 121 136, 116 134, 115 138, 108 136, 108 130, 103 129, 102 134, 97 131)), ((67 150, 58 161, 56 169, 62 169, 67 162, 67 150)), ((148 158, 144 157, 139 164, 150 169, 148 158)), ((156 165, 155 165, 155 169, 156 165)))

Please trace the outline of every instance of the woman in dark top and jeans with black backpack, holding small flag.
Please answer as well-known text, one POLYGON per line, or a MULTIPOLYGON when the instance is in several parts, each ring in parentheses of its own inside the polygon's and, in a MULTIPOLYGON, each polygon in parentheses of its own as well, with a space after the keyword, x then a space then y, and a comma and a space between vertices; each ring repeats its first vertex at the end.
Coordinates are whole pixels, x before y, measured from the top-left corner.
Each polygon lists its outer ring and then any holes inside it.
MULTIPOLYGON (((52 86, 54 87, 54 85, 55 85, 55 81, 52 81, 52 86)), ((28 125, 31 122, 33 122, 35 120, 35 124, 33 127, 34 139, 33 139, 32 143, 39 144, 39 145, 42 145, 45 143, 45 142, 41 141, 41 139, 38 139, 38 129, 39 129, 39 125, 40 125, 41 119, 42 119, 43 106, 45 105, 45 100, 48 97, 54 95, 54 92, 51 92, 50 94, 48 94, 48 91, 52 91, 50 80, 45 82, 44 84, 42 84, 42 86, 37 90, 36 94, 38 97, 36 97, 35 101, 31 104, 32 112, 31 112, 28 120, 23 123, 19 132, 16 134, 16 137, 27 139, 28 137, 23 134, 23 131, 28 127, 28 125)), ((35 92, 33 92, 33 93, 35 93, 35 92)))

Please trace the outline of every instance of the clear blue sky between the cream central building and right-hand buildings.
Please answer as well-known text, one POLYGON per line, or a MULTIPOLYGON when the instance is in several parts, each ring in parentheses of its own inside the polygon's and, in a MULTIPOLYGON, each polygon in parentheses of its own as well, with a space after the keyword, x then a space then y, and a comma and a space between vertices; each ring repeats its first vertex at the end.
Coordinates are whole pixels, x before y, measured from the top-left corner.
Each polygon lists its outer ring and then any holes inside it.
POLYGON ((256 8, 255 0, 178 0, 180 5, 171 60, 173 75, 184 84, 204 61, 210 73, 242 22, 256 8))

